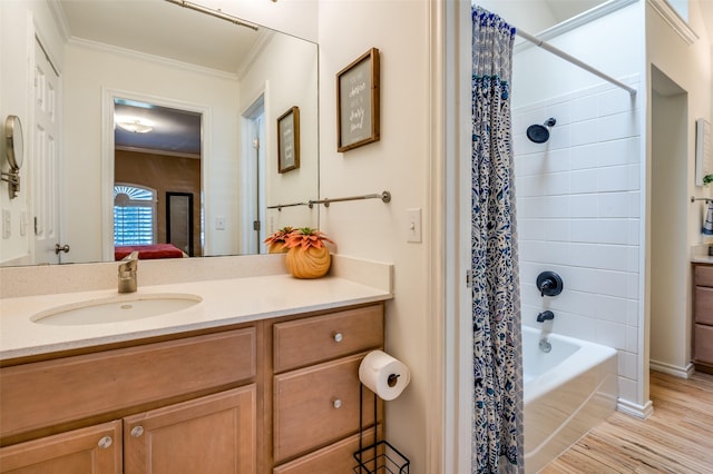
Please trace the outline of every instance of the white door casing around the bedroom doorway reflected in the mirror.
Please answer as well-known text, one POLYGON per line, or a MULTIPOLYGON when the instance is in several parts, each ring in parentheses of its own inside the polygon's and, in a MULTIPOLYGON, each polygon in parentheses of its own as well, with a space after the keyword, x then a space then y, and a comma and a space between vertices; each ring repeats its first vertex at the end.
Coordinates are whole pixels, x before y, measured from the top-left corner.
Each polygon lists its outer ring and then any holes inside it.
MULTIPOLYGON (((211 157, 211 107, 186 102, 183 100, 157 97, 140 92, 120 89, 105 88, 101 90, 101 258, 102 261, 114 261, 114 100, 129 99, 139 102, 153 103, 172 109, 187 110, 202 115, 201 120, 201 200, 204 209, 204 223, 211 223, 211 203, 208 189, 208 172, 206 164, 211 157)), ((201 248, 204 256, 211 255, 209 229, 202 228, 204 238, 201 248)))

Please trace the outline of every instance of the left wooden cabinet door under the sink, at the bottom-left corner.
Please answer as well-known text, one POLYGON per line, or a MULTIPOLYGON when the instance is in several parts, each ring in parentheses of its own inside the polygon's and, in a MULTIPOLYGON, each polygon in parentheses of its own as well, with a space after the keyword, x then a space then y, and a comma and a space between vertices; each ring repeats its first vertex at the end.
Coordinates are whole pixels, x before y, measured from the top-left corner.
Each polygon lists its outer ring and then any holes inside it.
POLYGON ((90 426, 0 450, 0 472, 121 473, 121 422, 90 426))

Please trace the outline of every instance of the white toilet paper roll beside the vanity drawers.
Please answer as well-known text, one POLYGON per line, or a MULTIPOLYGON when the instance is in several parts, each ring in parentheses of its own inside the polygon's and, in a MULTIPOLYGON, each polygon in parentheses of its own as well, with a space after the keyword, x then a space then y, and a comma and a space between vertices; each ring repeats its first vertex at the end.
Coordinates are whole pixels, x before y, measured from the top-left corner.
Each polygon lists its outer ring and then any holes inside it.
POLYGON ((372 350, 359 366, 359 379, 380 398, 390 401, 409 385, 411 373, 401 361, 382 350, 372 350))

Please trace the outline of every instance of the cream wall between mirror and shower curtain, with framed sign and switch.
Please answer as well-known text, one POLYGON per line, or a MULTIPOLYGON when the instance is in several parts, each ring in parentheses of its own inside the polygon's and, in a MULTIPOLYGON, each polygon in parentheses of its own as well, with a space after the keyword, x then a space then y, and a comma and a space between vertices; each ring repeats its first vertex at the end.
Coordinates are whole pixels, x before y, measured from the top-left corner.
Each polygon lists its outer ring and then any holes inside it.
MULTIPOLYGON (((394 264, 395 298, 387 305, 387 352, 412 371, 410 386, 387 402, 387 438, 411 460, 411 473, 426 465, 429 409, 428 333, 429 176, 429 2, 320 2, 320 194, 355 196, 389 190, 378 199, 332 204, 320 220, 339 253, 394 264), (335 75, 375 47, 381 51, 381 140, 336 152, 335 75), (423 210, 423 243, 409 244, 407 213, 423 210)), ((438 427, 436 427, 438 428, 438 427)))

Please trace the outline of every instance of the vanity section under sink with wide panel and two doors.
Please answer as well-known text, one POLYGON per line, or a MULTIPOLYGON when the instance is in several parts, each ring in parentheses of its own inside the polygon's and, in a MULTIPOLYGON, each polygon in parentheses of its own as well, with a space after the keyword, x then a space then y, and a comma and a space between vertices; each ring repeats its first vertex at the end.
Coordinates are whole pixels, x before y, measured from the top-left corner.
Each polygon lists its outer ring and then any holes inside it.
POLYGON ((261 334, 256 324, 0 368, 0 472, 257 472, 261 334))

